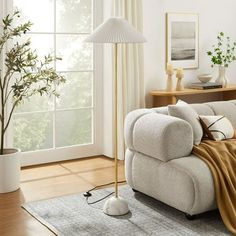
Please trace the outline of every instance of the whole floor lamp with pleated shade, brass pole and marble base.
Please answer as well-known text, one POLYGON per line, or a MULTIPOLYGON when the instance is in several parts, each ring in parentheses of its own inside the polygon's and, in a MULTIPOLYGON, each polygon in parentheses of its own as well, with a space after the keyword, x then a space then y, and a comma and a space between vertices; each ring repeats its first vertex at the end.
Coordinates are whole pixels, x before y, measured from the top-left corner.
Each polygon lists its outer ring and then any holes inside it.
POLYGON ((109 198, 103 207, 103 212, 107 215, 124 215, 129 212, 127 202, 119 196, 118 193, 118 136, 117 136, 117 46, 122 43, 144 43, 146 42, 142 34, 131 26, 128 21, 121 17, 109 18, 103 24, 98 26, 94 32, 85 40, 85 42, 93 43, 112 43, 115 47, 115 148, 114 148, 114 159, 115 159, 115 196, 109 198))

